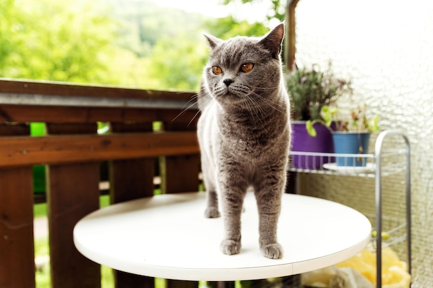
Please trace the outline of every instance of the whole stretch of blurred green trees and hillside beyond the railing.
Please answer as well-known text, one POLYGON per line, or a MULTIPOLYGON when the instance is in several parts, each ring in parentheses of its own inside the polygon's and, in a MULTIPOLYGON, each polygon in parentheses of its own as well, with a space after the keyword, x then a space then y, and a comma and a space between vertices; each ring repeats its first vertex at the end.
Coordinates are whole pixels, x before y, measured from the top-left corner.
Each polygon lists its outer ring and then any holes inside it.
POLYGON ((0 77, 10 78, 196 90, 208 59, 201 32, 268 32, 149 0, 0 0, 0 9, 0 77))

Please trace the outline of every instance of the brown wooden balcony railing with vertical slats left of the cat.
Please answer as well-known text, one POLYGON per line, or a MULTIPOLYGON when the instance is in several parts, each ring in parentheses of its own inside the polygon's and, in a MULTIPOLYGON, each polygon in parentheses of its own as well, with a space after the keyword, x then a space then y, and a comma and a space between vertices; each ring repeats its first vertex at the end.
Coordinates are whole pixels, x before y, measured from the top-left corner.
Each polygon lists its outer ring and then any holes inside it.
MULTIPOLYGON (((100 266, 80 255, 72 236, 99 208, 100 162, 109 162, 111 203, 153 195, 156 158, 163 193, 197 191, 197 108, 185 111, 192 96, 0 79, 0 287, 35 287, 34 165, 46 165, 55 288, 100 287, 100 266), (31 136, 30 122, 46 123, 46 135, 31 136), (110 132, 98 135, 97 122, 109 122, 110 132)), ((154 287, 152 278, 115 274, 116 287, 154 287)))

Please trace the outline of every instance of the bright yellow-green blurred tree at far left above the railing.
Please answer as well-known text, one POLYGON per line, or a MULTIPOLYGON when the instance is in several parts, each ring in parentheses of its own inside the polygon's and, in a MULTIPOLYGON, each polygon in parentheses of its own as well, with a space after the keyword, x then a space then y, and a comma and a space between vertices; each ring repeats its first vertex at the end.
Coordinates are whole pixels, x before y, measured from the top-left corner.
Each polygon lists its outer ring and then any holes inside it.
POLYGON ((0 0, 0 75, 76 82, 106 74, 113 26, 98 1, 0 0))

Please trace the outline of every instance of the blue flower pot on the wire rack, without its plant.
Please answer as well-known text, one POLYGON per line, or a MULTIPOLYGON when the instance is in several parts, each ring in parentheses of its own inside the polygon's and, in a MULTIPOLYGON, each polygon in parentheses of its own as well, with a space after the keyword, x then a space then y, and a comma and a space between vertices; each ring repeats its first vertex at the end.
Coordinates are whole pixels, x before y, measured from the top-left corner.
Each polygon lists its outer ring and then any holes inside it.
MULTIPOLYGON (((332 139, 337 154, 367 154, 369 151, 370 133, 334 132, 332 139)), ((367 157, 338 156, 335 161, 337 166, 365 166, 367 157)))

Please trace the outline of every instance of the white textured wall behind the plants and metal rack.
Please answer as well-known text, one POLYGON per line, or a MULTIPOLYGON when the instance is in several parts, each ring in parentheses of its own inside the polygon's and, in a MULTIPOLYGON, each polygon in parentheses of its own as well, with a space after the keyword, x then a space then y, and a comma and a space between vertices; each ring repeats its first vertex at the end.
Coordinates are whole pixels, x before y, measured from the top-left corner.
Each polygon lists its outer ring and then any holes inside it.
MULTIPOLYGON (((433 2, 301 0, 296 25, 299 66, 331 59, 336 75, 351 78, 355 99, 380 115, 380 128, 409 135, 413 287, 433 287, 433 2)), ((402 208, 400 179, 386 180, 387 213, 402 208)), ((302 175, 302 193, 372 207, 371 181, 302 175)))

